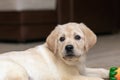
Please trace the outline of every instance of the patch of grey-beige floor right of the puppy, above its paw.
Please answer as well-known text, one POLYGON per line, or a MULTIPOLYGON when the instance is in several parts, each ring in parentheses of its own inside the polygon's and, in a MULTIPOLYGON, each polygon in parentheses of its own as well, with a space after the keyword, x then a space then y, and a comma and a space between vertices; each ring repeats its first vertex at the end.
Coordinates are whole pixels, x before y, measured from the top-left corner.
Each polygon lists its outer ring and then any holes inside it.
POLYGON ((89 51, 87 65, 90 67, 120 67, 120 33, 98 37, 97 44, 89 51))

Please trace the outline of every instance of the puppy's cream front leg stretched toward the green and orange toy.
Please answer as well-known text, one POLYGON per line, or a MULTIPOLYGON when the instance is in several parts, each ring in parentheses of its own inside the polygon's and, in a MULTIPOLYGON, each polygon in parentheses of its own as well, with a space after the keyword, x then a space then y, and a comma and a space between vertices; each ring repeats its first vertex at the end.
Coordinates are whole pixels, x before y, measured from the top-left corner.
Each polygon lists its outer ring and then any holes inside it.
POLYGON ((103 68, 85 68, 85 75, 92 77, 108 78, 109 71, 103 68))

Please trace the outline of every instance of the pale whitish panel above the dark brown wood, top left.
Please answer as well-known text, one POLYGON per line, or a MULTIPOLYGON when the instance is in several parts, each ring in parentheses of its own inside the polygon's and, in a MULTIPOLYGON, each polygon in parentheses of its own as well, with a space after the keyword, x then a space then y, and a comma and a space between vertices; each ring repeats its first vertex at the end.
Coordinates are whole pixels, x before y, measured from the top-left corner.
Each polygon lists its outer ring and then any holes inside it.
POLYGON ((0 11, 54 10, 56 0, 0 0, 0 11))

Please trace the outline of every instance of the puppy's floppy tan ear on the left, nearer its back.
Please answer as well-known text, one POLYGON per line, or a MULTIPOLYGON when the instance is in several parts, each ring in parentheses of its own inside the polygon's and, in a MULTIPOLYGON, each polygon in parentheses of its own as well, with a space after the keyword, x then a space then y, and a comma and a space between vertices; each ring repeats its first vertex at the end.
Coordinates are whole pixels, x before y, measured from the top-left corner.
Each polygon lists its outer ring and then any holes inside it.
MULTIPOLYGON (((58 26, 57 26, 58 27, 58 26)), ((50 33, 50 35, 46 39, 46 43, 48 48, 55 54, 57 52, 57 37, 58 37, 58 29, 57 27, 50 33)))

